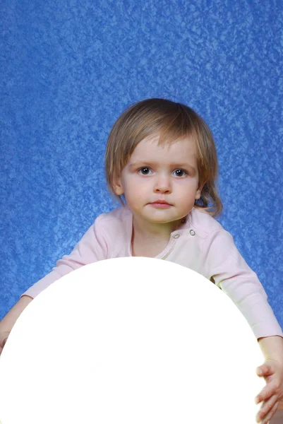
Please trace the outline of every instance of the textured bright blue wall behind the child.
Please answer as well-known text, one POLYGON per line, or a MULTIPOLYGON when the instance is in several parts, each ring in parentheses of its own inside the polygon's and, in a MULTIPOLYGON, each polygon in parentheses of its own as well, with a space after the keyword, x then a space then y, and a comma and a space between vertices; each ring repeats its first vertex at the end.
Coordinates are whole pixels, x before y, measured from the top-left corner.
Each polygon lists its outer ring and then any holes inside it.
POLYGON ((113 207, 109 130, 161 97, 212 129, 221 223, 283 326, 282 19, 281 0, 0 1, 0 318, 113 207))

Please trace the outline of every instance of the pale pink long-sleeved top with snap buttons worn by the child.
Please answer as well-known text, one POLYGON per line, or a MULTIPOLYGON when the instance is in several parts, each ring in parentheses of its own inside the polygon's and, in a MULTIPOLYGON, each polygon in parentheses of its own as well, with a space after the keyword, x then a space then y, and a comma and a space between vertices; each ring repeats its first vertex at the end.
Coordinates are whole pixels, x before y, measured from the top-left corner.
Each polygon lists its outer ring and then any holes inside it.
MULTIPOLYGON (((102 213, 73 252, 60 259, 51 273, 24 295, 35 298, 48 285, 80 266, 102 259, 131 257, 132 228, 133 214, 127 207, 102 213)), ((241 310, 256 338, 283 336, 263 285, 241 257, 233 237, 207 213, 193 208, 156 258, 186 266, 213 281, 241 310)))

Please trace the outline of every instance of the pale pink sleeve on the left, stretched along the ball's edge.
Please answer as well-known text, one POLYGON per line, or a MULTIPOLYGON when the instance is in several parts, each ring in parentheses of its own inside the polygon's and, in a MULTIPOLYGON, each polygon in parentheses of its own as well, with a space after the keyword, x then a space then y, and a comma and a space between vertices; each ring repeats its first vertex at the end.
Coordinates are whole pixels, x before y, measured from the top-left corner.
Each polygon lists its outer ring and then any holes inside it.
POLYGON ((107 259, 107 242, 101 228, 101 220, 98 217, 95 223, 85 232, 80 242, 74 247, 73 252, 59 259, 52 271, 32 285, 22 296, 28 295, 31 298, 35 298, 42 290, 71 271, 102 259, 107 259))

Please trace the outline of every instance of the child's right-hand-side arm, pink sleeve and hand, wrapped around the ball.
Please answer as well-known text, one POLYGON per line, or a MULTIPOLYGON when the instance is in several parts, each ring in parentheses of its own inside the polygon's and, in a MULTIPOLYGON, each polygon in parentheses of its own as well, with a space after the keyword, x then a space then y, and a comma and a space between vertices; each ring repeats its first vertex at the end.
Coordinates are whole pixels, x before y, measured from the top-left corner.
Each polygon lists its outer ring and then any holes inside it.
POLYGON ((265 355, 265 363, 257 373, 265 378, 266 386, 256 401, 263 402, 257 420, 267 424, 283 395, 282 329, 267 302, 263 285, 241 257, 233 237, 226 231, 214 232, 206 248, 210 275, 247 319, 265 355))

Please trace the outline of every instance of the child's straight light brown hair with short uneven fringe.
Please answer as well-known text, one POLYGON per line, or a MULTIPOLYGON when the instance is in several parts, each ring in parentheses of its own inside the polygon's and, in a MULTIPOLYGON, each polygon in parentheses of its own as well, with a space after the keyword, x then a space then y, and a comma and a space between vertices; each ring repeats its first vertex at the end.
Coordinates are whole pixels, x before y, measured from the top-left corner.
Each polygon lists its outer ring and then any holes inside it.
MULTIPOLYGON (((210 129, 191 107, 164 99, 148 99, 129 107, 116 120, 110 131, 105 153, 105 173, 109 190, 128 163, 138 143, 147 136, 159 134, 160 143, 174 143, 191 137, 195 142, 200 187, 203 189, 195 208, 211 216, 222 212, 217 193, 217 153, 210 129)), ((124 204, 122 196, 116 196, 124 204)))

